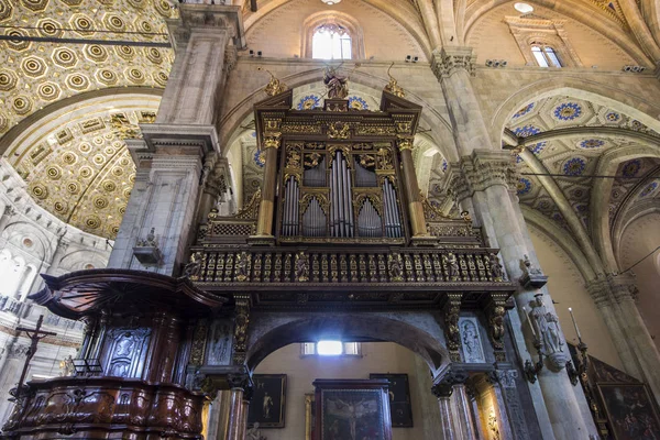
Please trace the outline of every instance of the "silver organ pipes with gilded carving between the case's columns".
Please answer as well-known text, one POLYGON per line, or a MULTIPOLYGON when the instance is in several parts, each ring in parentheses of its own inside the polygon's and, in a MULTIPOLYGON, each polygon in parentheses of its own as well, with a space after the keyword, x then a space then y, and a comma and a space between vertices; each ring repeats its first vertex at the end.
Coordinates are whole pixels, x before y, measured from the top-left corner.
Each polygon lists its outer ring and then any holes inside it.
POLYGON ((393 143, 285 141, 280 161, 280 238, 404 238, 393 143))

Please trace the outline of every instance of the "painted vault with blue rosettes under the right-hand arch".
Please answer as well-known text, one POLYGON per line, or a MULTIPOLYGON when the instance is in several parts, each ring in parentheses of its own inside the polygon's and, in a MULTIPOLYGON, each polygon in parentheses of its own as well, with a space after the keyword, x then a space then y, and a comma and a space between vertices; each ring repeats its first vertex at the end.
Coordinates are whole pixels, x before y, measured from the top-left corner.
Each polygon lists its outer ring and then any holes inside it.
MULTIPOLYGON (((637 142, 630 133, 644 133, 651 139, 658 138, 660 142, 659 133, 620 111, 565 96, 524 106, 513 116, 507 129, 518 138, 529 138, 527 150, 551 175, 587 232, 592 228, 592 189, 596 183, 596 178, 590 176, 598 175, 604 155, 612 156, 614 152, 635 147, 637 142), (548 136, 549 133, 558 135, 548 136)), ((518 184, 520 202, 569 230, 553 197, 540 179, 526 175, 535 173, 531 164, 520 156, 517 164, 522 173, 518 184)), ((602 215, 609 216, 610 223, 622 206, 629 207, 636 198, 653 197, 660 184, 653 179, 659 175, 659 164, 656 158, 637 157, 624 161, 608 174, 616 178, 613 179, 609 205, 602 215)))

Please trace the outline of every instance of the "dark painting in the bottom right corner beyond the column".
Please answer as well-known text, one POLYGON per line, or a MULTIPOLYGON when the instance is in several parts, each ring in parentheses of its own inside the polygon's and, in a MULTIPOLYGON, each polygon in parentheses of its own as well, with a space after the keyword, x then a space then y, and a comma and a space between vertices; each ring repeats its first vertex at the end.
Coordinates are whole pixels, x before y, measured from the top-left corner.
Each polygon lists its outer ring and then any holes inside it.
POLYGON ((660 438, 660 418, 645 384, 597 384, 615 440, 660 438))

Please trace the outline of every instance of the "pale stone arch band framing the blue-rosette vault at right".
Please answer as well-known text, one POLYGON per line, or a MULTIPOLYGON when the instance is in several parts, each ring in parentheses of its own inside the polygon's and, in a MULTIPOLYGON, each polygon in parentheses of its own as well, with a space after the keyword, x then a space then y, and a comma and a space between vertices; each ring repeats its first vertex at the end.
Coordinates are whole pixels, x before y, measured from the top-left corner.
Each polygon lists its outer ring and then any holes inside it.
POLYGON ((660 106, 648 97, 632 95, 616 88, 575 77, 539 79, 519 88, 505 99, 491 120, 491 135, 494 145, 504 141, 506 124, 521 107, 557 95, 592 101, 637 119, 651 130, 660 131, 660 121, 653 114, 660 114, 660 106))

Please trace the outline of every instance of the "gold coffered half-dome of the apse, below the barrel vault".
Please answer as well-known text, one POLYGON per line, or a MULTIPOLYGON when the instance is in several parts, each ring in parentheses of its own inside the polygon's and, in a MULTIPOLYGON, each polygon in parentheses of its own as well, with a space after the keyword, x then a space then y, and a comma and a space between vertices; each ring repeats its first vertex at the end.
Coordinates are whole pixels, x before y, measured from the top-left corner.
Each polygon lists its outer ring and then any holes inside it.
POLYGON ((153 122, 157 97, 139 106, 96 105, 79 118, 63 114, 29 142, 6 153, 42 208, 96 235, 114 239, 135 179, 135 165, 123 142, 139 123, 153 122))

